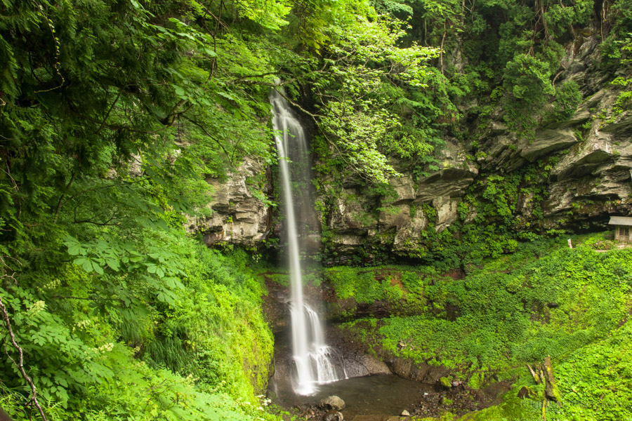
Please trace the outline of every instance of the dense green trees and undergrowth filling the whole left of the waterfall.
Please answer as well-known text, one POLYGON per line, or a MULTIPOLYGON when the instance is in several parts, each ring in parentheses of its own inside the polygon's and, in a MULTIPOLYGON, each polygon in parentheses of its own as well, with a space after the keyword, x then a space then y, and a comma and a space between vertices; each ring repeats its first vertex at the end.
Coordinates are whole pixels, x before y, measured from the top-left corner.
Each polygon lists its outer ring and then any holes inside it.
MULTIPOLYGON (((209 215, 206 177, 274 161, 250 76, 294 57, 244 39, 289 5, 235 4, 230 28, 225 8, 0 2, 0 293, 49 420, 275 418, 255 397, 265 290, 183 229, 209 215)), ((0 404, 29 419, 11 352, 0 404)))

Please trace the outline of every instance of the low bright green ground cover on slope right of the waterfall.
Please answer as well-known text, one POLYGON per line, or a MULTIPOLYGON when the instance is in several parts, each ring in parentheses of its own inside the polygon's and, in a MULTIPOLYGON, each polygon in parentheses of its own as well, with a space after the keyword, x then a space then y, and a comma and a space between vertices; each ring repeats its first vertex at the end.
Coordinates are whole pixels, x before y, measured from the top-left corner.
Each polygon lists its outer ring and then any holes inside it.
POLYGON ((333 268, 327 275, 338 298, 416 306, 414 316, 343 326, 369 346, 447 366, 474 388, 496 379, 515 381, 503 405, 472 419, 539 419, 544 390, 534 384, 526 364, 550 355, 562 405, 547 408, 549 420, 625 420, 632 417, 627 404, 632 372, 626 362, 632 349, 632 324, 626 323, 632 249, 600 253, 595 248, 602 240, 575 238, 574 249, 566 239, 522 243, 511 255, 469 267, 463 279, 429 267, 333 268), (364 285, 370 276, 375 288, 364 285), (384 281, 393 278, 397 281, 384 281), (393 285, 400 288, 399 298, 389 291, 393 285), (516 401, 523 385, 542 397, 516 401))

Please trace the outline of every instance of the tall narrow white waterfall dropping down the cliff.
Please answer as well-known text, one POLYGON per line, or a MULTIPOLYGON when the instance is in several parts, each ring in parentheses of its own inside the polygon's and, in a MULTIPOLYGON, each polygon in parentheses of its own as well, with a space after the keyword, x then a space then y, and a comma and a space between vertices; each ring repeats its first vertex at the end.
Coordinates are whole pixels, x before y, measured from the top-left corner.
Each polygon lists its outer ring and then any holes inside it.
MULTIPOLYGON (((303 277, 296 217, 298 213, 300 218, 301 210, 309 205, 303 200, 299 201, 298 206, 294 206, 292 186, 298 185, 298 192, 301 192, 301 183, 303 183, 302 188, 308 189, 306 183, 310 181, 309 149, 303 126, 294 116, 287 101, 277 91, 272 90, 270 103, 274 111, 272 126, 277 131, 275 142, 279 156, 281 190, 287 222, 292 293, 290 305, 292 353, 296 366, 294 391, 297 394, 308 395, 316 392, 316 385, 338 380, 336 368, 329 359, 331 348, 324 342, 322 323, 318 314, 305 305, 303 300, 303 277)), ((304 238, 305 233, 302 234, 304 238)))

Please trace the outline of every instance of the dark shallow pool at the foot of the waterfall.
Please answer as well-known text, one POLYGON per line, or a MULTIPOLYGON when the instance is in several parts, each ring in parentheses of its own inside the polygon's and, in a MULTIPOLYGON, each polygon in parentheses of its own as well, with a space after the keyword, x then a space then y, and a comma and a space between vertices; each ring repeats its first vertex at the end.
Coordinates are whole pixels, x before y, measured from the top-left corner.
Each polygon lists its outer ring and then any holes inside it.
MULTIPOLYGON (((482 389, 466 385, 446 388, 441 385, 410 380, 395 374, 373 374, 350 377, 315 386, 313 394, 297 393, 292 387, 292 352, 290 331, 275 335, 275 373, 268 383, 268 397, 278 406, 290 410, 299 419, 322 421, 326 412, 318 406, 321 399, 336 395, 345 401, 341 410, 345 421, 388 420, 403 410, 419 417, 438 417, 449 411, 457 415, 487 408, 498 403, 511 382, 492 382, 482 389)), ((354 354, 338 343, 339 354, 333 361, 340 366, 341 355, 354 354)), ((349 370, 350 367, 347 367, 349 370)))

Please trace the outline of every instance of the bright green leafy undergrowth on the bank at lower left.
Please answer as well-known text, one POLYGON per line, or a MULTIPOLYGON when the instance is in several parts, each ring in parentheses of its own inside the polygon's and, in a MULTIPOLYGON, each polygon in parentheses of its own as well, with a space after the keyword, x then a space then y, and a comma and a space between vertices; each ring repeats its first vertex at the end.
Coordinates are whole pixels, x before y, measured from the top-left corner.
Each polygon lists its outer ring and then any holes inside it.
MULTIPOLYGON (((37 288, 0 288, 48 420, 277 419, 257 397, 272 334, 246 253, 223 256, 184 236, 170 245, 183 262, 171 302, 152 299, 129 273, 72 263, 37 288), (126 290, 113 295, 114 281, 126 290)), ((8 359, 0 369, 11 373, 0 381, 0 407, 32 419, 17 369, 8 359)))

